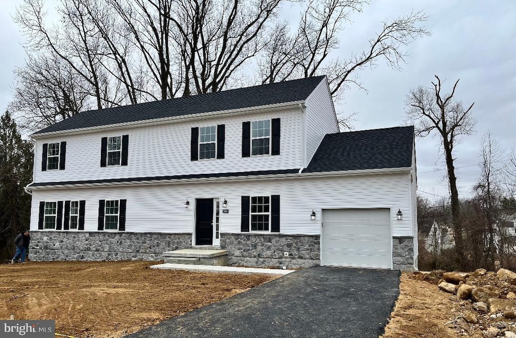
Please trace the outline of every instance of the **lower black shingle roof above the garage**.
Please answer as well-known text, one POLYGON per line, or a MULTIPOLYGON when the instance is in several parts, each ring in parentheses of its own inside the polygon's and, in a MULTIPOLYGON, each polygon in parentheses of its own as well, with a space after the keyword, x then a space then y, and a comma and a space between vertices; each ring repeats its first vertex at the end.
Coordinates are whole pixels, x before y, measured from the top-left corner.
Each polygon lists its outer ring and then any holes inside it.
POLYGON ((409 168, 414 126, 327 134, 303 172, 409 168))

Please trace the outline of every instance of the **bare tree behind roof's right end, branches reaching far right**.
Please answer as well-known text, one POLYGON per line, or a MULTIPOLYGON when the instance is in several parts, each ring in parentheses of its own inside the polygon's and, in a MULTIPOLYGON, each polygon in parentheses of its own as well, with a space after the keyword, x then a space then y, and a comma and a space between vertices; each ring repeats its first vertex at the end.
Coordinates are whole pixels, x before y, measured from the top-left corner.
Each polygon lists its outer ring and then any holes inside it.
POLYGON ((358 72, 381 60, 400 69, 407 56, 403 47, 418 37, 430 35, 421 25, 427 20, 422 11, 384 21, 380 32, 369 40, 368 49, 353 52, 347 58, 332 57, 341 44, 338 34, 350 23, 350 15, 361 12, 366 4, 367 0, 309 1, 294 35, 287 36, 284 25, 276 28, 272 43, 264 50, 262 61, 266 62, 260 65, 263 83, 326 74, 331 94, 338 97, 350 85, 364 89, 358 72))

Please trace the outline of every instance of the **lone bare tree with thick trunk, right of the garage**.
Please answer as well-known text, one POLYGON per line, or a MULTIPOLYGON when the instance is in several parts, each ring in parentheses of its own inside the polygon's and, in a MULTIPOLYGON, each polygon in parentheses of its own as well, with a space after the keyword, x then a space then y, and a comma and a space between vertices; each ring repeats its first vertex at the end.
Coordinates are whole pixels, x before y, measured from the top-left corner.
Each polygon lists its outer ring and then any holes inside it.
POLYGON ((455 99, 455 90, 459 80, 455 82, 451 93, 446 94, 442 92, 441 79, 437 75, 435 77, 437 83, 432 82, 432 87, 419 86, 407 94, 406 112, 408 120, 416 125, 417 136, 425 137, 431 133, 437 133, 441 139, 448 176, 455 248, 459 264, 462 264, 464 245, 454 166, 454 148, 461 141, 462 135, 470 135, 474 130, 476 121, 471 114, 474 103, 465 108, 460 100, 455 99))

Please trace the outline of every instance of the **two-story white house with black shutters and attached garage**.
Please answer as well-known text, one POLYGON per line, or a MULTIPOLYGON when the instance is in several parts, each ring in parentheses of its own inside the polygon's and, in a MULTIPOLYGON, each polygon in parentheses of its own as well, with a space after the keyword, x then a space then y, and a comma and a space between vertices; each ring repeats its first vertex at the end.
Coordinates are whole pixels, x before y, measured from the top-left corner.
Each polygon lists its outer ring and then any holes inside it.
POLYGON ((340 133, 327 78, 82 112, 35 141, 31 260, 417 267, 412 126, 340 133))

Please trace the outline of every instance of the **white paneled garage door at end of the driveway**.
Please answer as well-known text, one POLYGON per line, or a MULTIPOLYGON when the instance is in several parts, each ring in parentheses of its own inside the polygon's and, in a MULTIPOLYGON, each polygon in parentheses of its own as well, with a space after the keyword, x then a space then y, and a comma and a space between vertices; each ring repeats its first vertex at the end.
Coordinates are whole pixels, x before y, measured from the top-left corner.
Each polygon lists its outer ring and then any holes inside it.
POLYGON ((321 265, 392 268, 389 209, 322 211, 321 265))

